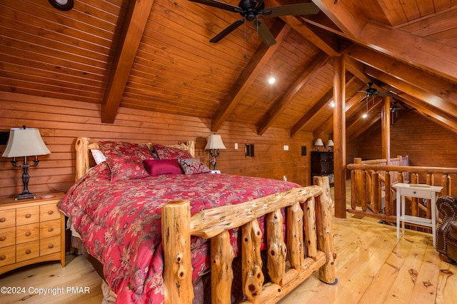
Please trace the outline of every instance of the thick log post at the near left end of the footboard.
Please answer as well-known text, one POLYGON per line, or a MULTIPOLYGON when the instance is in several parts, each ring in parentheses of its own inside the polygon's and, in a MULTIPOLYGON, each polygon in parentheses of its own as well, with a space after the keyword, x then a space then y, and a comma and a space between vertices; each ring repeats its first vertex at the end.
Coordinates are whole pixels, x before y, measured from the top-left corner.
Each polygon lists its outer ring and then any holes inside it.
POLYGON ((173 201, 162 207, 164 303, 192 303, 191 205, 173 201))

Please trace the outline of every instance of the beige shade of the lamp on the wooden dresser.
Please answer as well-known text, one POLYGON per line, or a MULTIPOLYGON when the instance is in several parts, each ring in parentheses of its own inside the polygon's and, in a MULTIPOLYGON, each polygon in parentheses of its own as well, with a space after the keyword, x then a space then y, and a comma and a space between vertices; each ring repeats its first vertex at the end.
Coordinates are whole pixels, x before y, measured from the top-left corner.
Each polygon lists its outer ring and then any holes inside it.
POLYGON ((44 144, 37 128, 11 128, 3 157, 38 156, 51 151, 44 144))

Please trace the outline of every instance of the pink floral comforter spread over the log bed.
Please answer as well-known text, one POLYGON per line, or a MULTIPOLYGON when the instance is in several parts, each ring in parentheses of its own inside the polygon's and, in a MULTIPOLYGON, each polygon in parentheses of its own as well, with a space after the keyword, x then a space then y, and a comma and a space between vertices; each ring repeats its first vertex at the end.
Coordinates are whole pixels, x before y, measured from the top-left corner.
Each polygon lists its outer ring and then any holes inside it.
MULTIPOLYGON (((161 206, 189 199, 191 213, 298 187, 266 178, 169 174, 110 183, 106 163, 91 169, 59 202, 88 252, 104 265, 116 303, 162 303, 161 206)), ((209 265, 206 240, 192 238, 193 278, 209 265)))

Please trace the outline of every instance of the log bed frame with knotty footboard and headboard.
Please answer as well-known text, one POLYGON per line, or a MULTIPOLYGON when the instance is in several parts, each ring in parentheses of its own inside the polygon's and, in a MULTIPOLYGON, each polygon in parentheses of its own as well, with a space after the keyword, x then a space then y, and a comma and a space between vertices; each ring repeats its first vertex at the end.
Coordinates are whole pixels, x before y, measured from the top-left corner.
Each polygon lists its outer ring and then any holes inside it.
MULTIPOLYGON (((194 142, 177 147, 194 156, 194 142)), ((89 151, 98 149, 90 138, 76 141, 76 180, 89 170, 89 151)), ((233 248, 229 229, 241 227, 243 303, 276 303, 318 270, 318 277, 335 284, 333 203, 328 177, 313 178, 315 186, 293 188, 233 206, 221 206, 191 216, 190 202, 172 201, 162 209, 164 303, 192 303, 191 235, 211 239, 211 301, 231 303, 233 248), (286 240, 283 216, 286 208, 286 240), (257 218, 266 216, 267 262, 270 282, 264 283, 261 230, 257 218)))

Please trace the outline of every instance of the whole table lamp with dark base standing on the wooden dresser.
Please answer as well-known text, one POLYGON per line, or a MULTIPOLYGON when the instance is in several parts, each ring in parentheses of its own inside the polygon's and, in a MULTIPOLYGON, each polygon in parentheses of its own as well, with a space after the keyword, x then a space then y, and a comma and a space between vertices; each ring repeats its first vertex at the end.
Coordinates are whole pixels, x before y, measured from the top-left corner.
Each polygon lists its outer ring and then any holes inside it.
POLYGON ((8 143, 6 143, 6 149, 3 153, 3 157, 12 157, 11 164, 16 168, 22 168, 22 184, 24 190, 21 194, 16 196, 16 201, 24 198, 35 198, 33 193, 29 192, 27 188, 29 184, 29 168, 38 165, 39 155, 49 154, 48 148, 44 144, 41 138, 40 132, 37 128, 11 128, 9 131, 8 143), (29 165, 27 163, 27 156, 34 156, 34 164, 29 165), (24 164, 17 165, 16 157, 24 157, 24 164))

